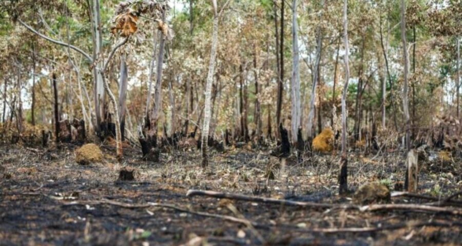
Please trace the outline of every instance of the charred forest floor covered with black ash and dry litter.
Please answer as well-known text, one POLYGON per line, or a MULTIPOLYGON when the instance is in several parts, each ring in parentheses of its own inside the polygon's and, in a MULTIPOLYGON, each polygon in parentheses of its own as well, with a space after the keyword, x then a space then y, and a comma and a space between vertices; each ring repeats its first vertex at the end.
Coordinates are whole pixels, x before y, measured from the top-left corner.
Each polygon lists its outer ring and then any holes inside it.
MULTIPOLYGON (((232 148, 225 153, 214 152, 209 167, 203 170, 199 167, 199 151, 192 149, 162 154, 160 163, 152 164, 140 160, 139 149, 128 148, 121 165, 112 157, 113 147, 102 146, 103 163, 82 166, 74 161, 75 148, 0 146, 1 245, 460 245, 462 242, 460 214, 300 208, 186 196, 189 189, 197 189, 352 204, 353 194, 338 195, 338 155, 316 155, 302 163, 287 160, 281 167, 269 151, 232 148), (135 168, 136 181, 118 181, 121 166, 135 168), (274 175, 269 175, 270 172, 274 175), (274 179, 267 179, 268 175, 274 179), (177 209, 138 206, 154 204, 149 202, 170 204, 177 209), (134 208, 129 204, 135 204, 134 208), (209 215, 227 215, 249 223, 209 215), (421 223, 429 224, 419 226, 421 223), (345 232, 350 229, 359 232, 345 232)), ((352 152, 349 189, 354 191, 369 181, 393 187, 395 181, 404 177, 402 156, 394 152, 374 158, 373 154, 363 156, 352 152)), ((448 163, 422 164, 419 194, 444 198, 459 192, 460 163, 460 159, 453 159, 448 163)), ((430 201, 399 196, 390 202, 430 201)))

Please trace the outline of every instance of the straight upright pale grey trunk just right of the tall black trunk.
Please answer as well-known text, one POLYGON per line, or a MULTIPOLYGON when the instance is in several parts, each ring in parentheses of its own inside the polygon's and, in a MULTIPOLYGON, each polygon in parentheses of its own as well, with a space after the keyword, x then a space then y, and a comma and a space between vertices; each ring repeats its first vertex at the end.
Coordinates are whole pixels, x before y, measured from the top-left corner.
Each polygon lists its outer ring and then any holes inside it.
POLYGON ((298 49, 298 23, 297 23, 297 0, 292 2, 292 120, 291 135, 294 144, 302 139, 297 139, 298 128, 300 127, 300 68, 299 68, 299 49, 298 49))

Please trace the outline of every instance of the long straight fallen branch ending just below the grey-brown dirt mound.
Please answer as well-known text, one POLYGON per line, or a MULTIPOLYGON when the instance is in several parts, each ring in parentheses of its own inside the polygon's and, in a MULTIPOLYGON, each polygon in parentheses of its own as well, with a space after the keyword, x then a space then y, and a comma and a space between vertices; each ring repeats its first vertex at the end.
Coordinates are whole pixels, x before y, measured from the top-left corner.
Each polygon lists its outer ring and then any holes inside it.
POLYGON ((337 205, 337 204, 317 203, 317 202, 307 202, 307 201, 292 201, 292 200, 275 199, 275 198, 268 198, 268 197, 246 196, 246 195, 241 195, 241 194, 223 193, 223 192, 216 192, 216 191, 189 190, 186 193, 186 196, 189 196, 189 197, 208 196, 208 197, 215 197, 215 198, 227 198, 227 199, 233 199, 233 200, 253 201, 253 202, 262 202, 262 203, 269 203, 269 204, 287 205, 287 206, 297 206, 297 207, 303 207, 303 208, 359 209, 358 206, 354 206, 350 204, 337 205))

